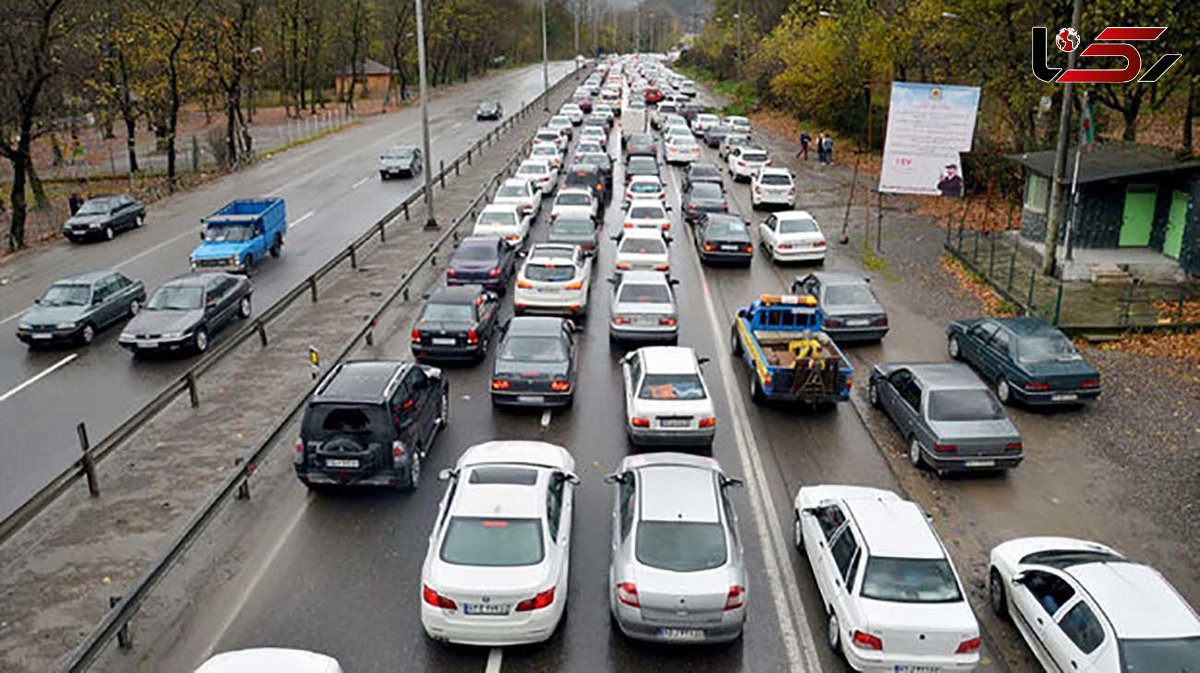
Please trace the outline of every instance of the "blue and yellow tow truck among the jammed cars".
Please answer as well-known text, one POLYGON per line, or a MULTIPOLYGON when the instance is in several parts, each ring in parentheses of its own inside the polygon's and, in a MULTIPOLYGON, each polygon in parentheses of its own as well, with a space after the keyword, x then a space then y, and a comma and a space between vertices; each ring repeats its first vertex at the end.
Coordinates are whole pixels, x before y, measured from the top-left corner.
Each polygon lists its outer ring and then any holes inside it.
POLYGON ((730 343, 750 369, 756 404, 779 399, 827 407, 850 399, 854 368, 824 332, 814 296, 760 296, 738 310, 730 343))

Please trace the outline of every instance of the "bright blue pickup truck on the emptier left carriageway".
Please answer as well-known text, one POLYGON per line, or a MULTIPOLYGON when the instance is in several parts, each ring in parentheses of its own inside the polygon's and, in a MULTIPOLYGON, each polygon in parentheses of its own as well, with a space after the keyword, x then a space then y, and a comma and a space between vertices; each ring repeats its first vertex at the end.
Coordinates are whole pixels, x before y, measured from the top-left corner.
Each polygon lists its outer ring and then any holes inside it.
POLYGON ((192 251, 193 271, 250 274, 268 254, 278 257, 288 232, 283 199, 235 199, 200 222, 200 245, 192 251))

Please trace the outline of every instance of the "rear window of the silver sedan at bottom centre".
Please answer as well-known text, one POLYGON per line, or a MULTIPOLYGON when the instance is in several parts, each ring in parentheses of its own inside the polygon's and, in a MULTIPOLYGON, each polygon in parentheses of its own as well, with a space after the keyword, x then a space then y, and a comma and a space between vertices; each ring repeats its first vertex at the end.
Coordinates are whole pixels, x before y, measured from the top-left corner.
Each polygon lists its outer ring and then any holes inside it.
POLYGON ((720 523, 643 521, 635 547, 642 565, 673 572, 697 572, 725 565, 728 549, 720 523))

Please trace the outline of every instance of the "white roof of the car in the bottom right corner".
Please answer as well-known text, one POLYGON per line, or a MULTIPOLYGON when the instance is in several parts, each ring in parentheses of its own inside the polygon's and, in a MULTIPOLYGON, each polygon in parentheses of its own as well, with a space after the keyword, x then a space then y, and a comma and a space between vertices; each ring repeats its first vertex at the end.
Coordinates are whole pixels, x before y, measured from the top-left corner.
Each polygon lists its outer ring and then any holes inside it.
POLYGON ((1122 560, 1064 572, 1091 594, 1120 638, 1200 636, 1200 618, 1153 567, 1122 560))

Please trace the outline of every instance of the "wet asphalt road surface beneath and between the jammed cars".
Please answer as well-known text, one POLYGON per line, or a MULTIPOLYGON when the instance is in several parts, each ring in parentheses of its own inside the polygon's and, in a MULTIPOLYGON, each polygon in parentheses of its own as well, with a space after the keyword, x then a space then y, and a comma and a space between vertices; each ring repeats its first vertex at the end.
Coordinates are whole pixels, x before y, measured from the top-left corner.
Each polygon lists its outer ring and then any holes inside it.
MULTIPOLYGON (((616 134, 613 140, 619 144, 616 134)), ((704 154, 707 160, 716 161, 714 151, 706 149, 704 154)), ((614 182, 620 193, 620 162, 617 170, 614 182)), ((682 173, 665 167, 662 175, 678 216, 682 173)), ((734 210, 755 224, 761 221, 750 210, 749 188, 732 184, 727 187, 734 210)), ((546 212, 548 206, 534 228, 535 241, 546 236, 546 212)), ((620 217, 619 203, 610 204, 607 234, 620 227, 620 217)), ((190 647, 200 653, 198 656, 246 647, 305 648, 336 656, 354 673, 848 671, 823 644, 826 618, 816 599, 816 584, 808 564, 790 547, 791 500, 803 483, 850 482, 893 489, 898 483, 848 403, 821 414, 755 407, 746 393, 744 367, 727 356, 728 320, 737 307, 760 293, 781 292, 793 275, 806 269, 776 268, 757 254, 750 269, 702 269, 683 227, 679 221, 673 226, 671 252, 673 275, 680 281, 680 344, 713 357, 706 368, 719 419, 713 453, 727 473, 744 476, 748 485, 754 475, 746 474, 745 465, 748 456, 754 456, 760 465, 758 489, 767 489, 757 510, 752 486, 734 494, 749 565, 749 618, 740 642, 648 647, 631 643, 608 625, 611 493, 602 477, 630 449, 620 431, 623 402, 617 371, 622 351, 610 345, 606 334, 611 289, 604 278, 612 269, 613 244, 605 239, 580 339, 574 409, 554 413, 545 423, 540 413, 493 411, 488 399, 490 360, 478 366, 448 367, 451 422, 426 462, 426 474, 432 476, 452 465, 466 447, 491 439, 541 439, 572 452, 582 483, 576 495, 570 603, 550 642, 490 651, 437 644, 424 636, 420 569, 442 495, 442 485, 426 480, 410 495, 316 495, 293 482, 286 497, 272 505, 280 512, 263 527, 265 534, 245 541, 250 548, 241 555, 262 558, 262 567, 250 573, 244 587, 229 591, 236 596, 230 603, 196 611, 203 614, 194 615, 196 621, 185 627, 191 629, 191 637, 185 638, 193 641, 190 647), (734 415, 748 421, 748 433, 734 433, 734 415), (773 577, 768 566, 781 573, 773 577), (198 649, 196 641, 200 642, 198 649)), ((848 265, 836 257, 826 263, 827 268, 848 265)), ((505 313, 511 314, 510 302, 505 313)), ((870 347, 864 354, 870 357, 878 348, 870 347)), ((410 357, 407 330, 397 330, 370 355, 410 357)), ((856 365, 862 367, 860 361, 856 365)), ((979 671, 1003 671, 991 659, 985 644, 985 663, 979 671)))

